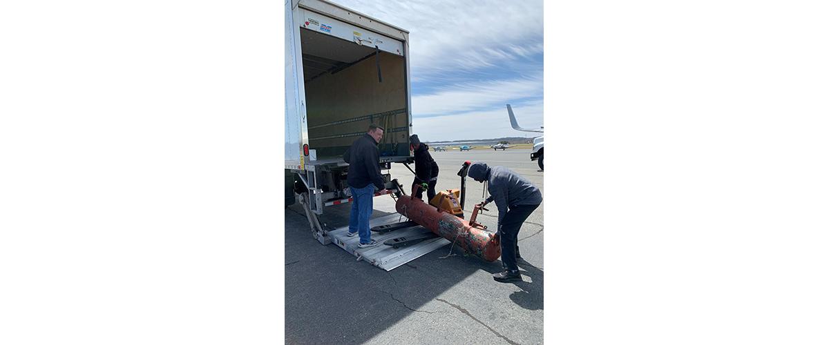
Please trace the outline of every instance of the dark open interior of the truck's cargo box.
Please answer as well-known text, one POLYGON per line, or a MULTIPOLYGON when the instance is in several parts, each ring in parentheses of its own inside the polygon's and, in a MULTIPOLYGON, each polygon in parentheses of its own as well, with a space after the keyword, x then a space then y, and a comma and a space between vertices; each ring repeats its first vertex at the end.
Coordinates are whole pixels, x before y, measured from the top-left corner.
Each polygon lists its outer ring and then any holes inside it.
POLYGON ((381 156, 409 156, 405 58, 300 32, 308 146, 318 159, 342 156, 371 123, 385 128, 381 156))

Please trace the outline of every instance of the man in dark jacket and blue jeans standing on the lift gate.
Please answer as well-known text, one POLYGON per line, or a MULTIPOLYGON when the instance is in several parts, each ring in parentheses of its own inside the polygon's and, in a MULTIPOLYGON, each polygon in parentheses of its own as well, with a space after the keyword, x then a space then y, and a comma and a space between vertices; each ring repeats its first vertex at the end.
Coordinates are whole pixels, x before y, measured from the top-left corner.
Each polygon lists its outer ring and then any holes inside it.
POLYGON ((383 127, 371 125, 368 132, 354 141, 351 147, 342 155, 348 163, 348 188, 351 189, 351 217, 348 219, 348 237, 360 234, 360 244, 357 247, 375 247, 378 242, 371 239, 371 229, 368 226, 371 213, 374 211, 375 189, 385 192, 383 176, 380 174, 380 149, 377 144, 383 138, 383 127))

